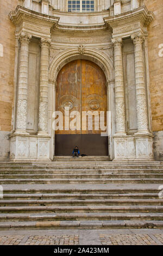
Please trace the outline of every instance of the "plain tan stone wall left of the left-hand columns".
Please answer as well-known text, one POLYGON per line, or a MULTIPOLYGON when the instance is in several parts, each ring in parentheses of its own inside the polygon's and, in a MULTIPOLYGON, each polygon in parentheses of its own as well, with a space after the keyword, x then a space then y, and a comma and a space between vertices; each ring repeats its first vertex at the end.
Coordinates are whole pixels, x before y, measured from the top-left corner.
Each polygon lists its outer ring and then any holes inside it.
POLYGON ((18 0, 0 0, 0 160, 8 158, 14 87, 15 26, 8 15, 18 0))

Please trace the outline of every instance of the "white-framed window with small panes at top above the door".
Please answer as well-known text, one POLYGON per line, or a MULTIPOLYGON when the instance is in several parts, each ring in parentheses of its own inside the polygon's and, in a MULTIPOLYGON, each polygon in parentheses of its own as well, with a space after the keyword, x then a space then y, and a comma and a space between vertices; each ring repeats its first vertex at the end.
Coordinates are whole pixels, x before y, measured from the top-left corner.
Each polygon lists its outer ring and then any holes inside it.
POLYGON ((91 0, 68 0, 68 11, 78 11, 78 12, 84 12, 84 11, 94 11, 95 10, 95 4, 94 1, 91 0))

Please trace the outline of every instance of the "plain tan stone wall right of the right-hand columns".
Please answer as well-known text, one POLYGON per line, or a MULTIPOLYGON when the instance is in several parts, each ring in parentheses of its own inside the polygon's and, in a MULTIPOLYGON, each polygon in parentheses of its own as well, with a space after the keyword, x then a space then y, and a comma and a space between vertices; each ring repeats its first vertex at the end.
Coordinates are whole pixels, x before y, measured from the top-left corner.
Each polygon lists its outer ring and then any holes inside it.
POLYGON ((154 132, 154 155, 161 160, 163 154, 163 5, 162 0, 146 0, 155 18, 148 27, 149 75, 151 81, 152 126, 154 132), (162 143, 161 143, 162 142, 162 143))

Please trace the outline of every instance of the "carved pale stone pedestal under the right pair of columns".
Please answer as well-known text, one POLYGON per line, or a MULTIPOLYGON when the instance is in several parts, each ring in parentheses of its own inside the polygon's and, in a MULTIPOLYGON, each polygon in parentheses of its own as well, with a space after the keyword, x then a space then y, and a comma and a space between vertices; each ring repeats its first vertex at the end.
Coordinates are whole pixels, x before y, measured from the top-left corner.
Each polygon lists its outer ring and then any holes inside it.
POLYGON ((154 161, 153 135, 148 134, 114 136, 113 161, 154 161))

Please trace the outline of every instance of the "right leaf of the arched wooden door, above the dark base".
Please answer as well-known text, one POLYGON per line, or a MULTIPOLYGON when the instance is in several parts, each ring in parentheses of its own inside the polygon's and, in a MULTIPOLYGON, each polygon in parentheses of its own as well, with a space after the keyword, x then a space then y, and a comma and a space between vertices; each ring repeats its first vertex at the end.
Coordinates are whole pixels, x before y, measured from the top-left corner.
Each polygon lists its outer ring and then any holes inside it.
MULTIPOLYGON (((99 66, 88 60, 82 60, 82 111, 98 113, 104 111, 106 125, 107 97, 105 75, 99 66)), ((102 132, 100 126, 98 130, 95 130, 94 116, 92 117, 92 124, 92 130, 89 130, 87 121, 86 131, 82 130, 82 134, 100 134, 102 132)))

